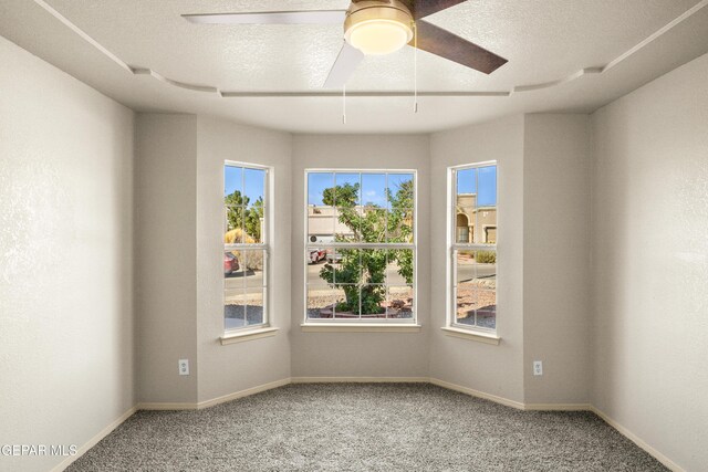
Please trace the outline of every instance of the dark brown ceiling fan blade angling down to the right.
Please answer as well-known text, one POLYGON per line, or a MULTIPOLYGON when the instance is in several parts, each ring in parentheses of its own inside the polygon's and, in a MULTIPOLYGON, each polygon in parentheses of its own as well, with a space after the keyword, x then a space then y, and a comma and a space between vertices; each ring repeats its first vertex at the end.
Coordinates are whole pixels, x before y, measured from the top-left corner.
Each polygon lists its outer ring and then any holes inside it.
MULTIPOLYGON (((416 33, 418 35, 417 48, 419 50, 430 52, 485 74, 491 74, 508 62, 493 52, 487 51, 485 48, 478 46, 426 21, 416 22, 416 33)), ((415 41, 410 41, 408 45, 415 45, 415 41)))

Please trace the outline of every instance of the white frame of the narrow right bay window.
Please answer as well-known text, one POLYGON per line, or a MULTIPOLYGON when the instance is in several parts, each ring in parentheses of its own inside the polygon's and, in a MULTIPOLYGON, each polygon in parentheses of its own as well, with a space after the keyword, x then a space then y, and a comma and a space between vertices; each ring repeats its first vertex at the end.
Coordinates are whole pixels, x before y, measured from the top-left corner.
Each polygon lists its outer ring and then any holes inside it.
MULTIPOLYGON (((462 164, 457 166, 450 166, 447 168, 447 303, 446 303, 446 326, 447 331, 458 331, 460 333, 468 332, 470 335, 479 334, 482 337, 497 338, 499 332, 499 316, 498 311, 494 310, 494 327, 487 328, 483 326, 468 325, 457 322, 457 252, 458 251, 494 251, 494 255, 498 255, 498 240, 493 244, 483 242, 468 242, 460 243, 457 241, 457 172, 467 169, 479 169, 482 167, 496 167, 496 181, 497 181, 497 201, 494 210, 497 212, 497 221, 494 228, 499 228, 499 162, 497 160, 486 160, 480 162, 462 164)), ((477 193, 479 195, 479 182, 477 182, 477 193)), ((479 207, 477 207, 479 208, 479 207)), ((473 228, 477 230, 477 220, 473 222, 473 228)), ((499 232, 497 231, 497 238, 499 232)), ((472 239, 475 239, 472 232, 472 239)), ((499 265, 497 259, 497 285, 494 289, 496 306, 499 302, 499 265)), ((496 343, 494 343, 496 344, 496 343)))

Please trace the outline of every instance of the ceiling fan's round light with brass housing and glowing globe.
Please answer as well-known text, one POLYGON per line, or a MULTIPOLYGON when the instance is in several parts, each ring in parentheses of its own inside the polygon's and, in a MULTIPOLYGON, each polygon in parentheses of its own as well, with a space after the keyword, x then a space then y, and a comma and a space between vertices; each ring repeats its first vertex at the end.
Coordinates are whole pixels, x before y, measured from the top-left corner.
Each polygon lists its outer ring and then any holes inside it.
POLYGON ((398 0, 352 3, 344 39, 366 55, 391 54, 413 39, 413 15, 398 0))

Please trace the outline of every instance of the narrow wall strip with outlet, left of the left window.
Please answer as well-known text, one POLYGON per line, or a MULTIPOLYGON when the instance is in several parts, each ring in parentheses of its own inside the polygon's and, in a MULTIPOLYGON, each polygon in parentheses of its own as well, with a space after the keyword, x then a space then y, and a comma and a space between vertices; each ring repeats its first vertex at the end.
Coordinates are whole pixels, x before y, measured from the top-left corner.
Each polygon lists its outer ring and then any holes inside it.
POLYGON ((195 402, 197 117, 139 114, 135 166, 139 401, 195 402))

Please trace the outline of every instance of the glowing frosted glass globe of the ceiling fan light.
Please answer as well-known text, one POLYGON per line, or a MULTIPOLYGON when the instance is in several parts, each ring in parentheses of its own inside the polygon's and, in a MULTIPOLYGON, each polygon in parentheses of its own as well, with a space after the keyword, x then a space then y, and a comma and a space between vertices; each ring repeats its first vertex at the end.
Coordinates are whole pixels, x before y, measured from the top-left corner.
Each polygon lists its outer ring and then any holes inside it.
POLYGON ((353 24, 344 38, 366 55, 384 55, 405 46, 413 39, 413 30, 395 20, 374 19, 353 24))

